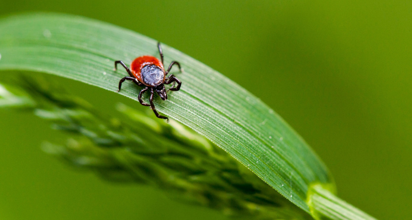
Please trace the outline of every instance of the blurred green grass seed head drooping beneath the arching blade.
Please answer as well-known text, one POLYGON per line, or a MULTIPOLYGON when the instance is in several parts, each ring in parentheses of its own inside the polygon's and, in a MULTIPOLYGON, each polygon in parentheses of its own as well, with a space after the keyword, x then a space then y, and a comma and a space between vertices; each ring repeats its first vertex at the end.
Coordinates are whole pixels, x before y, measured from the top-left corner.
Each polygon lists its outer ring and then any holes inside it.
MULTIPOLYGON (((103 114, 44 80, 21 78, 26 80, 17 82, 18 88, 0 85, 0 101, 24 100, 14 107, 31 110, 70 134, 63 146, 42 146, 69 164, 109 181, 152 185, 177 200, 237 218, 310 219, 232 156, 174 120, 166 123, 150 110, 122 103, 116 106, 120 115, 103 114)), ((10 106, 0 102, 0 107, 10 106)))

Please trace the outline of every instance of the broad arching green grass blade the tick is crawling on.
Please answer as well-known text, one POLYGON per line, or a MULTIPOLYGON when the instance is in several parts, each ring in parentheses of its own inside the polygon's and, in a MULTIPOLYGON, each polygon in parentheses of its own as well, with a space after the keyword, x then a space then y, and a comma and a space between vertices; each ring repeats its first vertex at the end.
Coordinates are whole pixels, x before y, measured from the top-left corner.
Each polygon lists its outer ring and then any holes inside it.
MULTIPOLYGON (((156 98, 161 113, 223 148, 297 206, 309 211, 309 185, 333 179, 308 144, 283 119, 244 88, 193 58, 163 45, 165 64, 179 61, 179 92, 156 98)), ((141 55, 158 56, 156 41, 107 23, 77 16, 29 14, 0 21, 0 70, 51 73, 117 90, 123 69, 141 55)), ((258 74, 258 73, 256 73, 258 74)), ((122 95, 137 100, 137 88, 122 95)), ((160 119, 159 119, 160 120, 160 119)))

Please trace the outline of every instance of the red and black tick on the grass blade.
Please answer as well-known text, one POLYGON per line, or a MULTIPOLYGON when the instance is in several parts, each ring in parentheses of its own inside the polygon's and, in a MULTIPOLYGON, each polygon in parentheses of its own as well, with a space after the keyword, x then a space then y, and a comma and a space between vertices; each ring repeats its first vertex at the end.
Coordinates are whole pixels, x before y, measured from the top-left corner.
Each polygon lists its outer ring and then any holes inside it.
POLYGON ((121 64, 123 67, 125 67, 126 71, 129 73, 129 76, 123 77, 120 80, 119 90, 117 92, 120 91, 120 89, 122 88, 122 83, 125 82, 126 80, 130 80, 133 83, 137 84, 138 86, 146 86, 145 88, 140 90, 139 95, 137 96, 140 104, 142 104, 143 106, 150 106, 154 114, 156 115, 156 117, 162 118, 162 119, 168 119, 166 116, 160 115, 154 108, 153 96, 154 96, 154 92, 156 92, 162 100, 166 100, 167 91, 169 90, 179 91, 180 86, 181 86, 180 80, 176 78, 176 76, 174 76, 173 74, 167 78, 166 76, 169 73, 170 69, 172 69, 172 66, 178 65, 180 72, 181 72, 181 67, 178 62, 172 61, 172 63, 170 63, 169 67, 167 68, 167 70, 164 71, 163 52, 162 52, 162 47, 160 46, 160 42, 157 43, 157 48, 159 49, 161 62, 153 56, 141 56, 141 57, 134 59, 133 62, 131 62, 130 64, 131 70, 121 60, 114 62, 115 71, 117 70, 117 64, 121 64), (169 85, 171 83, 173 83, 172 88, 169 88, 166 91, 164 84, 169 85), (177 87, 175 87, 175 83, 178 84, 177 87), (150 90, 150 98, 149 98, 150 104, 145 103, 142 100, 143 93, 145 93, 148 90, 150 90))

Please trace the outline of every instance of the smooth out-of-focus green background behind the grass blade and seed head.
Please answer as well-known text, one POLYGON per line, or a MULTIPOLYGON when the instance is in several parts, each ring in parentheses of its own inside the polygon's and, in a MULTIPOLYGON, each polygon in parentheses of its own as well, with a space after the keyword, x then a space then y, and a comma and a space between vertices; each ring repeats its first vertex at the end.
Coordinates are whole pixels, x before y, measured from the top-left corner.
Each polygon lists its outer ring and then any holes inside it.
MULTIPOLYGON (((114 23, 200 60, 282 115, 329 167, 340 198, 378 219, 412 219, 411 1, 1 2, 1 16, 24 11, 114 23)), ((131 102, 60 81, 102 110, 131 102)), ((71 169, 40 149, 64 134, 29 113, 0 114, 0 219, 226 219, 71 169)))

